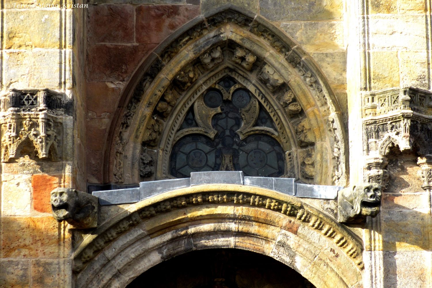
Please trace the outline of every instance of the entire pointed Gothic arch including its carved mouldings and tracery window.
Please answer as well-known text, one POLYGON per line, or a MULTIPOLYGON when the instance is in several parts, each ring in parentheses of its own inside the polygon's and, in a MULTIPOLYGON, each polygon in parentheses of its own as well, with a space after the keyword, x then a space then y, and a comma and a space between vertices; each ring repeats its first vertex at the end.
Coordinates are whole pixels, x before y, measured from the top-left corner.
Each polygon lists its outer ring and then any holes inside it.
POLYGON ((226 6, 185 24, 133 76, 106 182, 242 170, 346 184, 346 139, 314 61, 260 16, 226 6))

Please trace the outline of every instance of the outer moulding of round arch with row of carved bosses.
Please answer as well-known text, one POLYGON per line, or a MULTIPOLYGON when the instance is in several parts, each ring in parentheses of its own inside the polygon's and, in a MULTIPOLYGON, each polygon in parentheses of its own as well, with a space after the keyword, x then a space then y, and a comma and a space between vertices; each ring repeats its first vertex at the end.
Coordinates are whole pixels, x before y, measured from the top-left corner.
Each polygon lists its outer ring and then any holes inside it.
MULTIPOLYGON (((363 269, 362 244, 359 240, 336 221, 311 206, 299 201, 298 198, 257 187, 251 189, 251 187, 240 185, 213 184, 173 190, 162 195, 153 196, 152 198, 143 200, 136 204, 129 205, 127 211, 116 214, 113 218, 100 224, 96 230, 87 235, 76 247, 74 253, 75 272, 79 275, 81 271, 86 270, 86 266, 92 262, 92 260, 98 255, 99 251, 104 250, 105 247, 107 247, 111 242, 116 241, 117 238, 125 232, 134 230, 137 225, 143 222, 148 223, 148 221, 153 217, 164 213, 170 213, 178 209, 197 205, 206 205, 206 209, 210 209, 212 208, 212 205, 216 205, 215 208, 217 211, 220 209, 223 210, 224 205, 234 205, 238 207, 252 206, 256 209, 268 209, 277 212, 278 214, 287 217, 287 219, 294 221, 296 223, 295 225, 298 224, 305 227, 306 230, 318 232, 324 237, 324 239, 330 241, 330 246, 334 245, 334 249, 340 250, 346 255, 347 259, 350 259, 349 261, 353 263, 353 267, 357 268, 355 270, 360 271, 363 269)), ((164 221, 156 221, 161 225, 161 227, 153 227, 151 229, 152 232, 149 231, 149 233, 155 233, 154 237, 160 235, 160 232, 162 232, 162 234, 169 234, 170 230, 167 225, 171 221, 174 221, 173 223, 175 224, 183 223, 184 221, 194 221, 192 216, 186 216, 186 214, 187 213, 185 212, 185 219, 183 221, 177 218, 175 220, 171 219, 170 217, 172 216, 169 216, 171 214, 167 214, 168 218, 164 221), (162 230, 159 231, 160 229, 162 230)), ((216 213, 213 217, 229 217, 219 214, 216 213)), ((183 213, 178 215, 183 215, 183 213)), ((240 220, 241 219, 239 218, 238 221, 240 220)), ((251 218, 250 220, 252 221, 253 219, 251 218)), ((229 218, 226 218, 223 223, 226 221, 229 221, 229 218)), ((150 224, 150 227, 152 226, 153 224, 150 224)), ((209 233, 209 237, 214 233, 213 230, 208 230, 207 232, 209 233)), ((264 230, 262 230, 261 233, 264 233, 264 230)), ((304 235, 306 235, 306 232, 304 233, 304 235)), ((149 236, 152 238, 151 235, 149 236)), ((263 234, 262 237, 265 238, 267 236, 263 234)), ((310 241, 315 242, 316 239, 310 241)), ((132 244, 129 243, 128 245, 132 244)), ((78 278, 79 277, 81 276, 78 276, 78 278)))

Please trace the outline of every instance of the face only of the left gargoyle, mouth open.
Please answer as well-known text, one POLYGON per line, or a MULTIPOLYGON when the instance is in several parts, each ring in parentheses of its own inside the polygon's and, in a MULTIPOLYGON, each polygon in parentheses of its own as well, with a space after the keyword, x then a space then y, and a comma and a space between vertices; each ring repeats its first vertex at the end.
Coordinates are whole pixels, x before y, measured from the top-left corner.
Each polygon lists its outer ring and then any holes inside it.
POLYGON ((57 221, 75 218, 77 190, 70 188, 56 188, 51 191, 51 208, 57 221))

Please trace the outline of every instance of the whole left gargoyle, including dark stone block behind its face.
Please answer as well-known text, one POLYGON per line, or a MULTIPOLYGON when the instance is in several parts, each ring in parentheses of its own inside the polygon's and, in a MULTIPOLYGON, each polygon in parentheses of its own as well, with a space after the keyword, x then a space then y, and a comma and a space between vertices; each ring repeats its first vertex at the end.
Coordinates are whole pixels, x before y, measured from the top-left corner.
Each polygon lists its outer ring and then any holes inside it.
POLYGON ((74 228, 95 228, 98 225, 98 198, 70 188, 51 191, 51 208, 55 220, 67 221, 74 228))

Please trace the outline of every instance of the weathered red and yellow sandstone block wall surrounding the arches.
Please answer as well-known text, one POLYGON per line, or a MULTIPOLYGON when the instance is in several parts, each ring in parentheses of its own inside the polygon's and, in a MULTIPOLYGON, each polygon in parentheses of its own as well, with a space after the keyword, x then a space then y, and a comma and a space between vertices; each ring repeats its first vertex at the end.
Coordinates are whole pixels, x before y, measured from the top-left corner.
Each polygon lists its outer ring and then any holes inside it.
MULTIPOLYGON (((1 94, 48 88, 74 103, 60 161, 24 153, 2 163, 1 287, 72 285, 71 236, 52 218, 49 192, 106 182, 109 129, 131 76, 175 29, 217 6, 259 13, 314 58, 344 113, 352 184, 363 181, 365 166, 362 92, 432 88, 430 1, 90 0, 84 8, 59 1, 1 4, 1 94)), ((417 157, 388 156, 382 210, 368 229, 353 228, 365 242, 364 287, 432 287, 431 192, 421 188, 417 157)))

